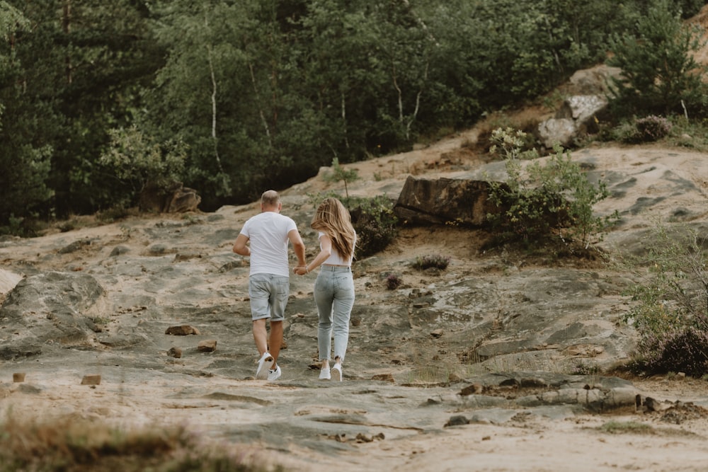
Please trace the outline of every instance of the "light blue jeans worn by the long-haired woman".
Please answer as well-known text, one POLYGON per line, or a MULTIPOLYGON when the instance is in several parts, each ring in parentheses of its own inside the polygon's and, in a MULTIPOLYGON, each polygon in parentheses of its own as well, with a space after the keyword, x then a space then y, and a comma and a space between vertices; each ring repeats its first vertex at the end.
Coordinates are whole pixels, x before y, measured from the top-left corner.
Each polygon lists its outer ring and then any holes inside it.
POLYGON ((343 362, 349 343, 349 319, 354 306, 351 268, 322 265, 314 282, 314 302, 319 315, 319 360, 330 359, 334 334, 334 358, 339 357, 340 362, 343 362))

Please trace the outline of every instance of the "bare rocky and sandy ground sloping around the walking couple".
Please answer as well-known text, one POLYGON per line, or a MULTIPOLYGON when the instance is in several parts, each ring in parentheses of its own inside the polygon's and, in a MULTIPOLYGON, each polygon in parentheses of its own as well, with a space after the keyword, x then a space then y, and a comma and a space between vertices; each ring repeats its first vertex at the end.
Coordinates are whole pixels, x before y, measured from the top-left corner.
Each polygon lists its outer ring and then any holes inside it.
MULTIPOLYGON (((352 165, 361 179, 348 191, 395 198, 409 175, 494 171, 464 146, 472 138, 352 165)), ((598 247, 641 251, 658 221, 704 229, 707 157, 658 146, 573 151, 610 185, 597 211, 622 217, 598 247)), ((308 258, 311 196, 326 190, 343 188, 318 176, 282 192, 308 258)), ((303 471, 704 469, 706 381, 573 375, 629 356, 634 333, 619 320, 627 275, 600 258, 485 252, 482 231, 404 227, 386 251, 357 260, 341 384, 317 379, 315 275, 292 277, 282 378, 254 380, 248 260, 231 248, 257 208, 77 219, 70 231, 1 241, 2 415, 185 425, 303 471), (412 267, 431 254, 450 257, 447 270, 412 267), (386 287, 391 273, 398 289, 386 287), (166 334, 183 325, 195 334, 166 334), (215 350, 200 348, 210 342, 215 350), (99 384, 82 384, 96 375, 99 384)))

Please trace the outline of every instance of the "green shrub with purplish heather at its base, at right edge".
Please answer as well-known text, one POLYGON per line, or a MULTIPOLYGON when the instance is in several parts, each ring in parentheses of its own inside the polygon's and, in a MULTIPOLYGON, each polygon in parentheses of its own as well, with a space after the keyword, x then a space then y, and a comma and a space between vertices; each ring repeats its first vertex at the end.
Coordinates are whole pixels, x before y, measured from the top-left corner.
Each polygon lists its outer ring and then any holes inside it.
POLYGON ((613 263, 636 282, 623 292, 632 306, 622 317, 639 342, 633 368, 647 374, 708 373, 708 247, 700 232, 657 226, 646 255, 617 254, 613 263))

